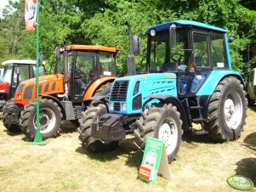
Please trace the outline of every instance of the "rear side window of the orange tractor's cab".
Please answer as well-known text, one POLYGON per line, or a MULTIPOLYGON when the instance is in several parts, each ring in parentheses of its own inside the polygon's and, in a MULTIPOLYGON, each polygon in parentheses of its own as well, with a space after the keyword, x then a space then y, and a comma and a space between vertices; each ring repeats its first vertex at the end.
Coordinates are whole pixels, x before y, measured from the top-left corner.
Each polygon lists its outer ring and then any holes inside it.
POLYGON ((100 52, 100 76, 116 76, 116 64, 114 55, 100 52))

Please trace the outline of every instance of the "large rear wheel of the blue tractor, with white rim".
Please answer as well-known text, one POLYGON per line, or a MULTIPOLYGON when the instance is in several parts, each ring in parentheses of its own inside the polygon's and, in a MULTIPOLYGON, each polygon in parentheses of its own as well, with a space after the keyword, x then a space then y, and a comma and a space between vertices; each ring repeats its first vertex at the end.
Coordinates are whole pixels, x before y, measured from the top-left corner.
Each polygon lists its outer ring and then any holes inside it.
POLYGON ((246 118, 246 93, 234 76, 225 77, 213 92, 208 105, 206 128, 216 141, 239 138, 246 118))

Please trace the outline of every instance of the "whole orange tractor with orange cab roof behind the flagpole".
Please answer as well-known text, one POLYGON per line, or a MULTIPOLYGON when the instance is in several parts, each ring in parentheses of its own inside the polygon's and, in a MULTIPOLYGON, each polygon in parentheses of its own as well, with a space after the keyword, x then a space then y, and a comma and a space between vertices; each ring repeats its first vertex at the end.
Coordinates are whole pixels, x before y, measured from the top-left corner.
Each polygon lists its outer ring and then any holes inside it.
MULTIPOLYGON (((78 124, 89 98, 105 97, 116 77, 119 48, 71 45, 56 49, 53 75, 39 77, 39 125, 43 138, 60 130, 61 120, 78 124)), ((36 134, 35 78, 20 82, 14 102, 3 107, 3 124, 21 128, 30 139, 36 134)))

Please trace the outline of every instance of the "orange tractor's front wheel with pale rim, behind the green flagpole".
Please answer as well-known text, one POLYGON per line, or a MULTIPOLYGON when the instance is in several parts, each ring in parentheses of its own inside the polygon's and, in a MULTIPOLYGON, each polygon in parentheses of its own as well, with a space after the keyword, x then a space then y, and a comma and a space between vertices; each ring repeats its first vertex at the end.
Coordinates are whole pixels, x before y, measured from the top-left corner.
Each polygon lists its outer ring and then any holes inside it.
MULTIPOLYGON (((21 112, 20 127, 26 137, 31 140, 35 137, 37 131, 36 102, 26 105, 21 112)), ((52 138, 60 130, 62 114, 60 107, 51 99, 39 100, 39 124, 42 137, 52 138)))

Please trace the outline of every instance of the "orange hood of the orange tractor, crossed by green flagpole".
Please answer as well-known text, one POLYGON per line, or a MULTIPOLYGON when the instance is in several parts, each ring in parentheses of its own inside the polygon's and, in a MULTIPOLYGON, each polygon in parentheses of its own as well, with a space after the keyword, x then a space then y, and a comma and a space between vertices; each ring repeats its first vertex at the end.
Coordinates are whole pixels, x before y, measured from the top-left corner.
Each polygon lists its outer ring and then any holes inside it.
MULTIPOLYGON (((54 95, 64 93, 64 75, 54 74, 39 76, 39 95, 54 95)), ((14 100, 16 104, 25 106, 36 99, 36 78, 21 82, 16 90, 14 100)))

